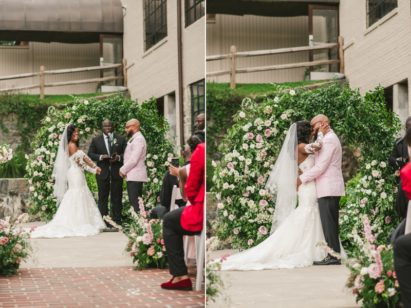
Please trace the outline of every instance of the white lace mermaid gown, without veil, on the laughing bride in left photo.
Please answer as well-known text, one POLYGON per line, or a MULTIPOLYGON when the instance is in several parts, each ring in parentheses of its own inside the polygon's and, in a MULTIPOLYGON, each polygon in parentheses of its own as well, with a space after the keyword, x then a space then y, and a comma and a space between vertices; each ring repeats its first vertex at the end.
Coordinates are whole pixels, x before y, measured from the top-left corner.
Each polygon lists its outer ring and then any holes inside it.
POLYGON ((89 166, 96 165, 82 150, 74 153, 69 161, 68 190, 54 218, 49 223, 36 228, 31 233, 31 238, 90 236, 97 235, 101 229, 106 228, 84 177, 84 170, 96 174, 96 169, 89 166))

